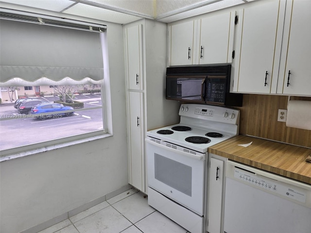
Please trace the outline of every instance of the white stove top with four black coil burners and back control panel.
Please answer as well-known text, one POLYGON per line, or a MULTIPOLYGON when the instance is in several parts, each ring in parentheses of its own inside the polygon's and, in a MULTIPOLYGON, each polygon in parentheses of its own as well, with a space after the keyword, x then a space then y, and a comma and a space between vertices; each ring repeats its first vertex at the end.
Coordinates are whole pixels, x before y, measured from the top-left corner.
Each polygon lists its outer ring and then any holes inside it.
POLYGON ((179 115, 179 124, 148 131, 147 136, 204 153, 208 147, 239 134, 240 114, 235 109, 182 104, 179 115))

